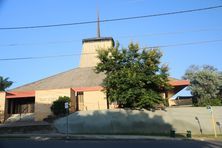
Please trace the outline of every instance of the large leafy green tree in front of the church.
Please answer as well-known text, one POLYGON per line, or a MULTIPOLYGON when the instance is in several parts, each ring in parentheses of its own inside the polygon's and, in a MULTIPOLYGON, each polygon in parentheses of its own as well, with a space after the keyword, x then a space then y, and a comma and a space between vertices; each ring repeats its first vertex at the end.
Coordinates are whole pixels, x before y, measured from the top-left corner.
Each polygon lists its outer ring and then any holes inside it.
POLYGON ((98 50, 100 62, 95 71, 106 78, 103 87, 109 102, 123 108, 154 108, 165 104, 161 93, 169 89, 168 67, 160 65, 162 53, 158 49, 140 49, 130 43, 128 48, 115 47, 98 50))

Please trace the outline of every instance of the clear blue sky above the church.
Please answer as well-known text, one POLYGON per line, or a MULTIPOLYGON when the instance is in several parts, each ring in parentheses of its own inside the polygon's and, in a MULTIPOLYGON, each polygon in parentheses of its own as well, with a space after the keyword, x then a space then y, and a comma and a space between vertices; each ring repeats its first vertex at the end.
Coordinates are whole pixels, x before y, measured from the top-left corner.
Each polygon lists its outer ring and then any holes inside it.
MULTIPOLYGON (((222 5, 222 0, 0 0, 0 28, 94 21, 97 10, 103 20, 218 5, 222 5)), ((141 47, 163 46, 161 61, 168 64, 170 76, 178 79, 193 64, 208 64, 222 71, 221 26, 222 8, 100 24, 101 36, 113 37, 121 47, 127 47, 130 42, 139 43, 141 47), (189 44, 184 45, 186 43, 189 44)), ((96 27, 92 23, 0 30, 0 59, 75 54, 0 60, 0 75, 14 81, 11 89, 76 68, 82 39, 96 37, 96 27)))

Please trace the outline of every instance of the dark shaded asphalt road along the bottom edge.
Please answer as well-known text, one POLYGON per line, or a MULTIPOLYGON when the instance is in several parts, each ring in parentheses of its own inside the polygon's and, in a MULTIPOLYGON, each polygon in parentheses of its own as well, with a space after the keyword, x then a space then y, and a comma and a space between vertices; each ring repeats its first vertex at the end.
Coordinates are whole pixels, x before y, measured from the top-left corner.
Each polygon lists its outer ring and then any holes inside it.
POLYGON ((0 140, 0 148, 221 148, 222 141, 195 140, 0 140))

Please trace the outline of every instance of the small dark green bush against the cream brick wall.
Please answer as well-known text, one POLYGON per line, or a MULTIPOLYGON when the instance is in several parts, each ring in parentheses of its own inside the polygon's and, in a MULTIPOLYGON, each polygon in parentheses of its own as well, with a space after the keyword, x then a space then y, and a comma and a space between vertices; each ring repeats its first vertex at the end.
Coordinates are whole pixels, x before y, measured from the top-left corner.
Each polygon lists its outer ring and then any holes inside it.
POLYGON ((70 98, 67 96, 59 97, 58 100, 54 101, 51 106, 51 111, 54 115, 65 115, 67 113, 65 109, 65 102, 70 102, 70 98))

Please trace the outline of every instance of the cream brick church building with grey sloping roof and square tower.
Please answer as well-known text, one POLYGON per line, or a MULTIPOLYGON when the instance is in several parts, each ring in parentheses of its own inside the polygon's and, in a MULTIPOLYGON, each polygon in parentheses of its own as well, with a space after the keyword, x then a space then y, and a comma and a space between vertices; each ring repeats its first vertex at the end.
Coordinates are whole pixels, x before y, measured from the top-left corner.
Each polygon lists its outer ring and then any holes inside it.
MULTIPOLYGON (((34 119, 41 121, 52 114, 50 106, 59 96, 71 98, 71 112, 115 108, 115 104, 107 103, 106 94, 102 91, 105 75, 94 72, 98 62, 96 50, 105 50, 114 44, 112 37, 100 35, 83 39, 79 67, 0 92, 0 120, 5 121, 13 114, 33 113, 34 119)), ((189 85, 186 80, 173 78, 169 78, 169 83, 174 89, 163 93, 166 99, 189 85)))

